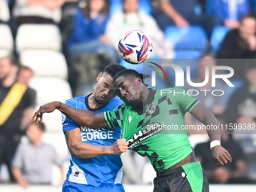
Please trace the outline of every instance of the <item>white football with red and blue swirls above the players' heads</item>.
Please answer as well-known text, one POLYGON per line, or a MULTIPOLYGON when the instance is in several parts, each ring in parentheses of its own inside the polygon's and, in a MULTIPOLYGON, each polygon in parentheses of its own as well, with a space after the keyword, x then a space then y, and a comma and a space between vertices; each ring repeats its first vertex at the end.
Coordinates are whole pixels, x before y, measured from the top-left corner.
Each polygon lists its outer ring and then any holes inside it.
POLYGON ((131 64, 139 64, 148 59, 153 47, 151 38, 145 32, 133 30, 126 32, 118 43, 122 59, 131 64))

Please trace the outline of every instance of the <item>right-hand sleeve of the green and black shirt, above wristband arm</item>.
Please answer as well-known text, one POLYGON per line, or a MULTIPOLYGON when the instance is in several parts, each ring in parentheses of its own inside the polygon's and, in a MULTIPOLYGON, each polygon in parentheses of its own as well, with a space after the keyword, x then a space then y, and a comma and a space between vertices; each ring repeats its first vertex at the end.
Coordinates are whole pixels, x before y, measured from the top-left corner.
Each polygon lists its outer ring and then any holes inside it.
POLYGON ((178 87, 172 88, 171 100, 189 113, 200 103, 196 98, 188 95, 187 91, 178 87))

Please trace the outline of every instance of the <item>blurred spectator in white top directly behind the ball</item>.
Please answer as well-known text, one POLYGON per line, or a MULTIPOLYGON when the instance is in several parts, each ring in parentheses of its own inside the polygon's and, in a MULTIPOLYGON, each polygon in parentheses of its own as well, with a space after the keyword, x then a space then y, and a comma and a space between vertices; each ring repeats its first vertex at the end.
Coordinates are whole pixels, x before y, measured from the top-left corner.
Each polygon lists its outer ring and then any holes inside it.
POLYGON ((157 26, 154 17, 138 11, 138 0, 123 0, 123 12, 115 13, 108 22, 106 35, 117 49, 118 41, 126 32, 134 29, 147 33, 152 40, 153 54, 170 59, 173 56, 172 43, 165 40, 163 32, 157 26))

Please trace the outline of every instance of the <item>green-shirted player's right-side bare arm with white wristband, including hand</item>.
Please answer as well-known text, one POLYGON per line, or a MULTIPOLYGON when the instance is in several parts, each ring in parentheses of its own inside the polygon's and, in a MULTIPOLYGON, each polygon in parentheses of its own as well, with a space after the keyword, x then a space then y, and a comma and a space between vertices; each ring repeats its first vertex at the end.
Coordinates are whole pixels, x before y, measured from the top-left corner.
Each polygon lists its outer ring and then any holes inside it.
MULTIPOLYGON (((221 147, 221 131, 219 130, 219 123, 214 114, 209 111, 203 104, 199 103, 192 111, 191 114, 200 120, 201 123, 209 126, 214 126, 212 129, 207 129, 208 135, 211 142, 216 143, 212 150, 212 157, 215 159, 218 165, 223 166, 224 164, 230 163, 232 157, 229 152, 221 147), (218 144, 219 142, 219 144, 218 144)), ((210 147, 210 146, 209 146, 210 147)))

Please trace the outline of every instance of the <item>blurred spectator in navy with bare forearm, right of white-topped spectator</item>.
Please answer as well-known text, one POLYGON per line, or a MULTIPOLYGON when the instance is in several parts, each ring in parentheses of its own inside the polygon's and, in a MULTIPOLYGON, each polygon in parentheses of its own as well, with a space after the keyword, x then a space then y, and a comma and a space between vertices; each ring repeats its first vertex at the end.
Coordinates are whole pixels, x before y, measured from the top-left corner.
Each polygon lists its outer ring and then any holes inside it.
POLYGON ((166 26, 200 25, 210 37, 214 26, 219 24, 217 17, 197 13, 200 2, 197 0, 152 0, 155 5, 156 19, 161 29, 166 26))

